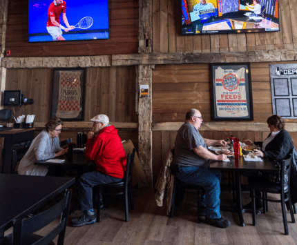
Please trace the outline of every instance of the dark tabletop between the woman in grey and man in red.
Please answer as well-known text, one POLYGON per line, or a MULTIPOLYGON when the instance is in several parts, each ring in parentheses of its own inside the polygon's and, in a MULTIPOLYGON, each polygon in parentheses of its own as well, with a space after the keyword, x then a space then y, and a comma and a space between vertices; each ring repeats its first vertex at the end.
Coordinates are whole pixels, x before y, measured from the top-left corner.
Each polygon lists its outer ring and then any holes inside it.
POLYGON ((78 176, 90 170, 90 166, 92 165, 92 161, 88 161, 88 159, 86 159, 86 155, 84 154, 84 152, 74 152, 72 157, 68 157, 68 155, 65 154, 61 157, 55 157, 55 159, 64 159, 65 162, 57 164, 51 162, 50 159, 48 159, 37 161, 35 162, 35 165, 64 167, 68 170, 73 170, 73 168, 76 168, 78 171, 78 176))

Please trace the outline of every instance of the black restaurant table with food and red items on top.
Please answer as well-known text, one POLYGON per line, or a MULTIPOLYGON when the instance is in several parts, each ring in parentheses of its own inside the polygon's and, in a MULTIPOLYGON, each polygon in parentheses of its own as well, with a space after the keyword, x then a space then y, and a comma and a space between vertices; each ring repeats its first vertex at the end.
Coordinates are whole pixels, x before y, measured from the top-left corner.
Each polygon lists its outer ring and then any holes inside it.
POLYGON ((262 161, 245 161, 244 157, 235 159, 229 158, 230 161, 210 161, 209 168, 221 170, 222 172, 234 172, 236 182, 236 207, 228 208, 228 210, 238 212, 240 226, 245 226, 242 213, 245 213, 245 209, 242 208, 242 196, 241 196, 241 178, 240 173, 266 172, 276 173, 278 170, 276 166, 269 159, 262 159, 262 161))

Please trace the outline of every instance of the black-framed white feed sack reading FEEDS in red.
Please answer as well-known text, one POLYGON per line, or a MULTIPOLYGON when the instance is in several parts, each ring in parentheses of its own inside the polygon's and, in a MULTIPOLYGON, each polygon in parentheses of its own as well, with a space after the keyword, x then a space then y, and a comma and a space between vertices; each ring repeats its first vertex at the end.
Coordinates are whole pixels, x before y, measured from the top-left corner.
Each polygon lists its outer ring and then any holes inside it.
POLYGON ((212 63, 213 121, 253 121, 249 63, 212 63))

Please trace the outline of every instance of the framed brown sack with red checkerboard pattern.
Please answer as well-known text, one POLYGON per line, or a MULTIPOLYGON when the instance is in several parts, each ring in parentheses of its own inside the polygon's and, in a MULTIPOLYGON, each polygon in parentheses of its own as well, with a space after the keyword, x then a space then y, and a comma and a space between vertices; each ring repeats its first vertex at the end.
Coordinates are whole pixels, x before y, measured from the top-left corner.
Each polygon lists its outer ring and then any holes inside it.
POLYGON ((86 68, 55 68, 50 118, 84 121, 86 68))

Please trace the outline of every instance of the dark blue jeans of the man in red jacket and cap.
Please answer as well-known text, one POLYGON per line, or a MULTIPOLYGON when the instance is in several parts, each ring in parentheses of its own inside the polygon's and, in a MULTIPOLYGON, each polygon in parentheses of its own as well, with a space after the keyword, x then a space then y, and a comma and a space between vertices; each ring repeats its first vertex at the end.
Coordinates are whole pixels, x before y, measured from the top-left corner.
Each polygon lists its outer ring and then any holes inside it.
MULTIPOLYGON (((93 208, 93 187, 98 184, 120 182, 122 179, 106 175, 102 172, 88 172, 79 177, 78 202, 80 210, 93 208)), ((99 198, 99 197, 98 197, 99 198)))

